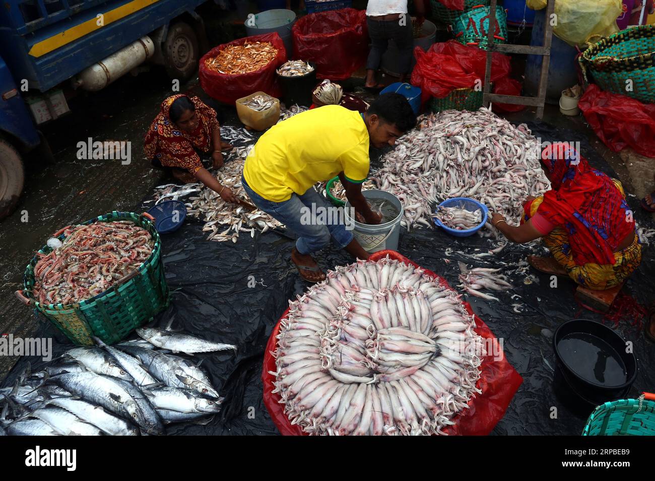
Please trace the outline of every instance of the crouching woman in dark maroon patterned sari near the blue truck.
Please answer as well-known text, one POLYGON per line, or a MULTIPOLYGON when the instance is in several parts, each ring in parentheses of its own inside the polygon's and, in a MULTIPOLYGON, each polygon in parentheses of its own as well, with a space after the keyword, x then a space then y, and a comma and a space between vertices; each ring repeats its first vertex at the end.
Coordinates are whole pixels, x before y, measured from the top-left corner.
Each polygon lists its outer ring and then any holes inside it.
MULTIPOLYGON (((221 129, 216 112, 197 97, 177 94, 165 99, 145 135, 143 150, 153 166, 170 168, 184 183, 198 179, 226 202, 237 202, 233 192, 221 185, 202 165, 201 153, 212 154, 214 169, 223 166, 221 129)), ((225 147, 229 147, 225 145, 225 147)))

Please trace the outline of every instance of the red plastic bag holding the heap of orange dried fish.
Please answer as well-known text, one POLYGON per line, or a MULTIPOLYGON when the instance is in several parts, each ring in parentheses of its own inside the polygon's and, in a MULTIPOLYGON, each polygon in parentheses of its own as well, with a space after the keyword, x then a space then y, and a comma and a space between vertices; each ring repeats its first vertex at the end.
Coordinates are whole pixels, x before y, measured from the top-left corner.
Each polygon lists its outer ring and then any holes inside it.
POLYGON ((198 78, 200 79, 200 86, 202 90, 207 92, 208 96, 224 102, 234 103, 236 99, 240 99, 253 92, 266 92, 270 96, 279 98, 282 95, 280 86, 278 85, 276 69, 287 61, 286 50, 284 50, 284 43, 278 33, 265 33, 263 35, 253 35, 252 37, 245 37, 243 39, 236 39, 223 45, 215 46, 204 54, 200 59, 198 67, 198 78), (213 58, 229 45, 243 45, 244 43, 255 42, 271 42, 272 45, 278 49, 278 54, 275 56, 268 65, 259 70, 248 73, 238 74, 225 74, 218 73, 205 67, 205 61, 208 58, 213 58))

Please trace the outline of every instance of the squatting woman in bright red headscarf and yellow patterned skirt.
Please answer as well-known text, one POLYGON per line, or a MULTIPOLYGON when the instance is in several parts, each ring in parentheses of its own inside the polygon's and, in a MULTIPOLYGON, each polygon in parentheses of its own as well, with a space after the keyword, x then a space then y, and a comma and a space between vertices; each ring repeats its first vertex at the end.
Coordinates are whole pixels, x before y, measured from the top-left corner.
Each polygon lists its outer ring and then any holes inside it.
POLYGON ((588 289, 623 283, 641 262, 641 245, 621 183, 591 168, 567 143, 546 147, 542 167, 552 190, 528 199, 521 226, 498 213, 493 225, 510 241, 544 240, 553 257, 529 256, 537 270, 568 275, 588 289))

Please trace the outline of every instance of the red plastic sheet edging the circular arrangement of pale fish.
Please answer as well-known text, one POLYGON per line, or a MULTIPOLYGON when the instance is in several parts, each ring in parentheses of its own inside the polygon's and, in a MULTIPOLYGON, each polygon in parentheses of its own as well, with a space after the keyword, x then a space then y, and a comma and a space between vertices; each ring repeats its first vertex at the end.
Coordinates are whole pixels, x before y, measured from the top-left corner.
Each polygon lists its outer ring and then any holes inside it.
MULTIPOLYGON (((418 264, 412 262, 407 257, 397 253, 396 251, 379 251, 371 256, 371 260, 379 260, 388 255, 390 258, 405 262, 405 264, 412 264, 419 267, 418 264)), ((440 276, 434 274, 430 270, 426 270, 428 276, 437 277, 441 285, 449 287, 447 281, 440 276)), ((468 302, 464 302, 464 308, 468 313, 474 315, 468 302)), ((289 310, 287 309, 280 321, 284 319, 289 310)), ((476 329, 477 334, 489 341, 485 342, 485 346, 498 346, 496 337, 487 325, 476 316, 476 329), (494 344, 491 344, 494 342, 494 344)), ((277 393, 272 393, 274 389, 273 382, 275 376, 269 374, 269 371, 275 371, 275 358, 272 352, 275 351, 277 345, 276 336, 280 332, 280 322, 275 325, 271 337, 266 346, 264 354, 264 365, 261 372, 261 380, 264 383, 264 404, 271 415, 271 419, 280 433, 284 436, 302 436, 303 430, 298 425, 291 425, 289 418, 284 414, 284 406, 280 404, 280 396, 277 393)), ((445 433, 449 435, 464 435, 464 436, 485 436, 491 433, 495 425, 500 421, 505 414, 507 406, 512 401, 514 394, 519 385, 523 382, 521 375, 508 363, 504 354, 497 355, 501 359, 495 359, 492 355, 484 357, 481 365, 481 376, 477 381, 477 388, 482 391, 481 395, 472 398, 468 402, 469 409, 463 410, 452 420, 455 425, 444 429, 445 433)))

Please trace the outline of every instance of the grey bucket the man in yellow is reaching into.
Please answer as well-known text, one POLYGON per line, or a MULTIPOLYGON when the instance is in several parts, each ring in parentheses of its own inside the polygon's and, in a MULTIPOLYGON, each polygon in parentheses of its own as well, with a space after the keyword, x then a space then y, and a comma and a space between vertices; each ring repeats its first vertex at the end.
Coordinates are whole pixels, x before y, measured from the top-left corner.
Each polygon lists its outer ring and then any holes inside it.
POLYGON ((377 226, 362 224, 356 219, 350 217, 350 202, 346 202, 344 207, 346 226, 353 227, 353 234, 355 239, 360 243, 362 248, 367 253, 374 253, 383 251, 384 249, 391 249, 392 251, 398 250, 398 238, 400 236, 400 221, 403 218, 403 205, 398 200, 398 197, 384 190, 364 190, 362 191, 364 198, 371 199, 384 199, 394 204, 400 213, 393 221, 389 221, 377 226))

